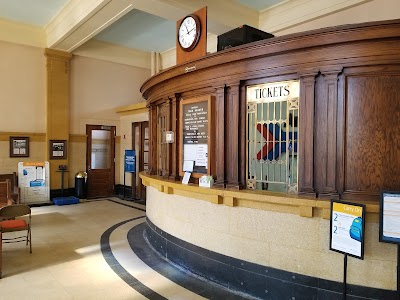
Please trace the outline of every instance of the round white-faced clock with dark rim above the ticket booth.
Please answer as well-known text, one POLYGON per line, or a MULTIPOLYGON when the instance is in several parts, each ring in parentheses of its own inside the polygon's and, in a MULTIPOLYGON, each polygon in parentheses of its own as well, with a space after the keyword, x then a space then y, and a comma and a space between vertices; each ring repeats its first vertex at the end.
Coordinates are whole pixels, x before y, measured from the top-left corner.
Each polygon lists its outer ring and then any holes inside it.
POLYGON ((196 15, 186 16, 178 28, 178 42, 183 51, 192 51, 199 42, 200 19, 196 15))

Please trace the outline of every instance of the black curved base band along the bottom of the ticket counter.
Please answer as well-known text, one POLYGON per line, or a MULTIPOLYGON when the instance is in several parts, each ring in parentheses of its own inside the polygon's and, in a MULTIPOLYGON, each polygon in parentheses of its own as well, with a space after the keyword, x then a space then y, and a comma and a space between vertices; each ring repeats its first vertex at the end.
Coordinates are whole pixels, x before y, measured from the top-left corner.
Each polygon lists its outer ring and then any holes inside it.
MULTIPOLYGON (((342 297, 343 284, 340 282, 265 267, 198 247, 168 234, 149 218, 143 226, 151 247, 160 256, 229 289, 259 299, 337 300, 342 297)), ((399 298, 396 291, 348 285, 347 299, 399 298)))

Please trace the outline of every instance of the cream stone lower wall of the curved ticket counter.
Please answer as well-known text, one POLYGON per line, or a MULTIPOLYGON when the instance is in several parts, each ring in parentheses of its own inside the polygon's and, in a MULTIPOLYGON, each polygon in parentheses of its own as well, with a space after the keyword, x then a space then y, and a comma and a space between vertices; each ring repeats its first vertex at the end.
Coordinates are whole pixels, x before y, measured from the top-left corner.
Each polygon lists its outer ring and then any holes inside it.
MULTIPOLYGON (((162 230, 208 250, 281 270, 343 280, 343 255, 329 250, 329 220, 217 205, 150 186, 146 214, 162 230)), ((347 280, 395 290, 396 246, 379 243, 376 219, 367 214, 364 260, 349 257, 347 280)))

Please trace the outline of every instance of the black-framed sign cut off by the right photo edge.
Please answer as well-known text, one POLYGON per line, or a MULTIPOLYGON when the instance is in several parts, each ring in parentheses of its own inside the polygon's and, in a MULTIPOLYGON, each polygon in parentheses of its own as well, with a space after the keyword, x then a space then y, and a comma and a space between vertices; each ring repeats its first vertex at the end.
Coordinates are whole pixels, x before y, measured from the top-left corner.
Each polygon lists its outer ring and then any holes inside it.
POLYGON ((400 192, 382 192, 379 241, 400 244, 400 192))

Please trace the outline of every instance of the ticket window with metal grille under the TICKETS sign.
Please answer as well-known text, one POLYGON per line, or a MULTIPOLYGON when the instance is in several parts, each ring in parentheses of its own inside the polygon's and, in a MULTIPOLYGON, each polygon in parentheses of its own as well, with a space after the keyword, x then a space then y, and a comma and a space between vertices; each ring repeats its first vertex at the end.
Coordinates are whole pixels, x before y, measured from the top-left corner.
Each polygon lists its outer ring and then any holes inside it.
POLYGON ((247 87, 247 188, 297 193, 299 81, 247 87))

